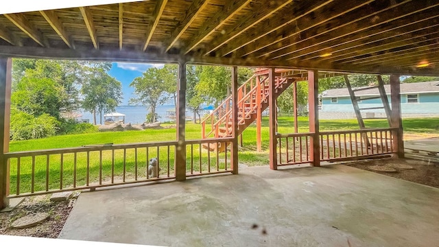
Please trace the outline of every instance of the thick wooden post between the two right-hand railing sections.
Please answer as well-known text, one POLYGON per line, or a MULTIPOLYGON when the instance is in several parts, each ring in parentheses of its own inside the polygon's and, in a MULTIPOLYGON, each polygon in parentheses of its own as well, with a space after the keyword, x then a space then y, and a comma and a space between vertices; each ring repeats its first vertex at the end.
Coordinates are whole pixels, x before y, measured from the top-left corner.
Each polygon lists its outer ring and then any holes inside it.
POLYGON ((308 71, 308 107, 309 132, 313 133, 309 139, 309 156, 313 166, 320 166, 320 141, 318 122, 318 71, 308 71))

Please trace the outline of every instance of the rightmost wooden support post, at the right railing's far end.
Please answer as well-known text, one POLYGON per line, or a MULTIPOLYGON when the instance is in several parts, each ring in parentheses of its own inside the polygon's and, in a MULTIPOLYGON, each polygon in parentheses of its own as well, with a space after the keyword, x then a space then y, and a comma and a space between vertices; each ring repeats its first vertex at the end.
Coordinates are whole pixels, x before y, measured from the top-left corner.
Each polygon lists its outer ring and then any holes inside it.
POLYGON ((401 119, 401 84, 399 75, 390 75, 390 99, 392 100, 392 131, 393 150, 398 158, 404 158, 403 121, 401 119))

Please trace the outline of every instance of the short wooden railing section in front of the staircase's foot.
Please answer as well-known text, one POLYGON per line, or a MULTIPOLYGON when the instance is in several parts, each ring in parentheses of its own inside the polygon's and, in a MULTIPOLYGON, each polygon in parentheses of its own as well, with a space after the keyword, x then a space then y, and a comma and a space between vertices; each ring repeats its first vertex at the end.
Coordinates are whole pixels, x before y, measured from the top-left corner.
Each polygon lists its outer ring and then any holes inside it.
POLYGON ((186 176, 232 172, 230 150, 226 148, 232 141, 233 137, 186 141, 186 176))

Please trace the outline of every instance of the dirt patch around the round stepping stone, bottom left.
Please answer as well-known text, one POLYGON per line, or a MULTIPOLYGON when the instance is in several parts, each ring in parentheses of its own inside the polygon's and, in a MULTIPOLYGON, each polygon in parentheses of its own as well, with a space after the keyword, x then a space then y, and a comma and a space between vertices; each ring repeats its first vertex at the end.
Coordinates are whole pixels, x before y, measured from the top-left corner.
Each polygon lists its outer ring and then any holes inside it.
POLYGON ((51 202, 49 199, 50 195, 27 197, 14 210, 0 213, 0 235, 57 238, 72 207, 69 207, 69 200, 51 202), (35 213, 49 213, 49 218, 30 228, 12 228, 14 220, 35 213))

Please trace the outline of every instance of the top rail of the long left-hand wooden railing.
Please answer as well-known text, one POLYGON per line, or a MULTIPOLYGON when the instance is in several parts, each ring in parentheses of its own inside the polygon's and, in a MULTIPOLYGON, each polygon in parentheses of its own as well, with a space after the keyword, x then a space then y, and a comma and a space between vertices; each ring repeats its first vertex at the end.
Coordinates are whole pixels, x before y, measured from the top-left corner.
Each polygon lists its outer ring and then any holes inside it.
POLYGON ((56 148, 50 150, 31 150, 31 151, 19 151, 8 152, 5 154, 8 158, 14 158, 19 156, 37 156, 45 154, 68 154, 75 152, 91 152, 100 150, 120 150, 126 148, 148 148, 148 147, 162 147, 168 145, 177 145, 177 141, 156 141, 154 143, 127 143, 127 144, 97 144, 97 145, 84 145, 82 147, 75 148, 56 148))

